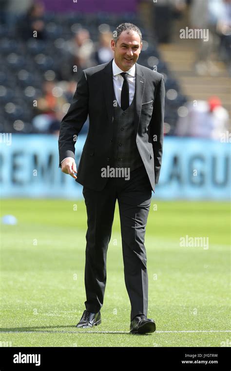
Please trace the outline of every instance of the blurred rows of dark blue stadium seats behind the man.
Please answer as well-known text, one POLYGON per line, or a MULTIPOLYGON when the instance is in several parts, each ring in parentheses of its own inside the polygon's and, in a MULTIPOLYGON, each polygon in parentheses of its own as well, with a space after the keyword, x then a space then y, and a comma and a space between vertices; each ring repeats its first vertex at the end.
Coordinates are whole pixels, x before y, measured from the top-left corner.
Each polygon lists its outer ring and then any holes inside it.
MULTIPOLYGON (((18 19, 15 28, 0 25, 0 122, 2 132, 36 132, 31 121, 38 112, 33 107, 33 100, 42 95, 42 84, 46 81, 46 72, 53 73, 55 81, 63 79, 63 69, 68 65, 65 41, 71 40, 79 28, 87 28, 91 40, 98 41, 100 25, 108 25, 113 31, 119 23, 130 21, 139 26, 144 41, 138 63, 149 68, 156 68, 165 78, 166 92, 174 89, 175 94, 166 95, 165 122, 168 124, 166 135, 171 135, 177 120, 177 109, 187 99, 180 92, 179 84, 171 76, 165 62, 161 60, 158 45, 152 35, 140 25, 139 18, 133 13, 121 15, 100 12, 92 15, 79 13, 45 14, 45 36, 43 40, 31 38, 23 40, 20 31, 24 25, 18 19), (109 26, 110 25, 110 26, 109 26), (154 67, 156 66, 156 67, 154 67), (53 71, 53 72, 52 72, 53 71), (21 120, 24 125, 15 124, 21 120)), ((65 80, 75 79, 68 72, 65 80)))

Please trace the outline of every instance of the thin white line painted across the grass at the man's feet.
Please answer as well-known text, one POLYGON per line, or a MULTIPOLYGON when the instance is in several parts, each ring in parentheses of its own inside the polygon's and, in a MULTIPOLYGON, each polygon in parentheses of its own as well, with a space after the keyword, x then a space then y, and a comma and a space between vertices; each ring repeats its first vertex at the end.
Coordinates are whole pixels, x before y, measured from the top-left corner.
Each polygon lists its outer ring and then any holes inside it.
MULTIPOLYGON (((154 331, 155 333, 195 333, 195 332, 231 332, 231 330, 181 330, 181 331, 154 331)), ((44 330, 44 331, 0 331, 0 333, 130 333, 130 331, 52 331, 52 330, 44 330)))

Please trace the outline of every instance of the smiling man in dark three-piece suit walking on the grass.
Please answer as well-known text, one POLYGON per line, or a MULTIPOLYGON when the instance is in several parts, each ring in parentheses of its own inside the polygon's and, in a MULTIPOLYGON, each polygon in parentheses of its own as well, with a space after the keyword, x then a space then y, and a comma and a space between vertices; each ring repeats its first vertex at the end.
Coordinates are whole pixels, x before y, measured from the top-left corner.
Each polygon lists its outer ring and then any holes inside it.
POLYGON ((144 237, 162 159, 164 79, 136 63, 142 35, 134 24, 120 24, 111 47, 113 60, 82 71, 58 139, 59 167, 83 185, 87 209, 87 300, 77 327, 101 323, 106 254, 117 199, 124 277, 131 302, 130 332, 154 332, 155 322, 147 318, 144 237), (88 114, 89 132, 77 172, 75 143, 88 114))

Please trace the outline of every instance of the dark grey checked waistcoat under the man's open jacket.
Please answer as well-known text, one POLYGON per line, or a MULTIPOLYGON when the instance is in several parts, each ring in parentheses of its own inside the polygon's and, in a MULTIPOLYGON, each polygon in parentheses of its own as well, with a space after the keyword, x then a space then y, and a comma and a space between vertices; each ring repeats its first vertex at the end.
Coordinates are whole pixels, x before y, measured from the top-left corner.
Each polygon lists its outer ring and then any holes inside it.
POLYGON ((135 94, 130 106, 123 111, 114 91, 113 100, 113 160, 112 167, 128 167, 130 171, 143 165, 134 131, 135 94))

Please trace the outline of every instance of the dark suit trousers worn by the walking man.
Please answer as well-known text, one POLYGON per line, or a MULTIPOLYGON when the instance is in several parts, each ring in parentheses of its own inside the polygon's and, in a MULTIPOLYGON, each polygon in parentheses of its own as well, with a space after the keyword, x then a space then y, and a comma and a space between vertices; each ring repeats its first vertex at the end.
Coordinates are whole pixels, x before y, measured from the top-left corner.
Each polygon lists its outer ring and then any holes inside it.
POLYGON ((152 188, 144 165, 131 171, 130 180, 108 178, 101 191, 83 186, 87 209, 85 307, 93 313, 103 305, 106 255, 118 200, 125 285, 131 303, 131 320, 148 310, 148 272, 144 246, 152 188))

